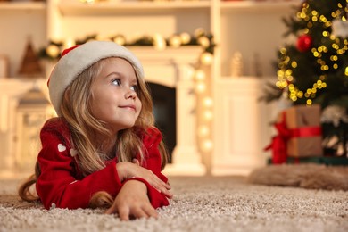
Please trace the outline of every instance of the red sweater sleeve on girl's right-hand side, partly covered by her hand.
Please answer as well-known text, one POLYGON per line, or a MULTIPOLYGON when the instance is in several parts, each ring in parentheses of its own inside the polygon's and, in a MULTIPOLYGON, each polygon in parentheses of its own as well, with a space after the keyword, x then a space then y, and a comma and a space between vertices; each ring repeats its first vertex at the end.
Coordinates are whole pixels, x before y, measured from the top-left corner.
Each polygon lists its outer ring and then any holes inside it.
MULTIPOLYGON (((148 170, 152 170, 153 173, 162 179, 164 182, 168 182, 166 178, 161 173, 161 162, 162 157, 158 149, 158 145, 162 141, 162 134, 156 128, 149 128, 143 138, 143 143, 145 145, 145 161, 142 163, 142 166, 148 170)), ((153 208, 159 208, 162 206, 169 205, 169 201, 165 195, 157 191, 153 186, 151 186, 145 179, 136 178, 139 181, 142 181, 147 187, 147 195, 150 199, 153 208)))

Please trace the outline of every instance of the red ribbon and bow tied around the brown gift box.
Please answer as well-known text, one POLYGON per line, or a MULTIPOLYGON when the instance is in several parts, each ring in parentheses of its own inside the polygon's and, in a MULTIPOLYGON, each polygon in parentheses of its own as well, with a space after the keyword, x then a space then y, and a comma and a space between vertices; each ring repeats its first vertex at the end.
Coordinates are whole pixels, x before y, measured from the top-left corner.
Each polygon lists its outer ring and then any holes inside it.
POLYGON ((286 112, 282 112, 280 122, 274 126, 278 130, 278 135, 272 138, 270 145, 264 148, 264 151, 272 149, 272 163, 281 164, 286 162, 286 143, 292 137, 316 137, 321 135, 320 127, 302 127, 292 128, 286 127, 286 112))

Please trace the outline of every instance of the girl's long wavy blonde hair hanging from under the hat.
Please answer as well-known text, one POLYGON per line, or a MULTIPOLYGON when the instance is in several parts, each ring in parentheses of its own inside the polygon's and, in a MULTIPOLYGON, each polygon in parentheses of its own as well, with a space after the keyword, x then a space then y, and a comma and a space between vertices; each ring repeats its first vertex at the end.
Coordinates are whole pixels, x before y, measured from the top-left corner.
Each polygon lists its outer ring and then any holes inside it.
MULTIPOLYGON (((87 176, 105 167, 105 160, 111 159, 117 153, 118 162, 132 162, 137 154, 140 156, 140 163, 145 162, 145 147, 142 137, 147 128, 154 127, 153 100, 145 80, 139 78, 137 69, 137 97, 142 103, 142 109, 135 122, 134 127, 120 130, 117 137, 112 137, 110 130, 104 121, 96 119, 91 113, 91 99, 93 93, 90 91, 94 84, 95 77, 104 68, 106 62, 112 58, 106 58, 95 62, 87 70, 83 71, 64 92, 61 104, 62 118, 67 121, 70 127, 71 142, 79 155, 75 156, 79 170, 83 176, 87 176), (104 153, 103 147, 95 143, 95 135, 103 137, 108 147, 113 147, 110 153, 104 153)), ((134 67, 133 67, 134 68, 134 67)), ((51 119, 54 120, 54 119, 51 119)), ((104 145, 105 145, 104 143, 104 145)), ((168 162, 168 152, 161 141, 159 150, 162 156, 162 169, 168 162)), ((41 170, 36 163, 35 173, 31 175, 19 188, 21 199, 33 202, 39 197, 30 190, 36 184, 41 170)), ((98 192, 92 196, 90 207, 106 207, 112 205, 112 196, 106 192, 98 192)))

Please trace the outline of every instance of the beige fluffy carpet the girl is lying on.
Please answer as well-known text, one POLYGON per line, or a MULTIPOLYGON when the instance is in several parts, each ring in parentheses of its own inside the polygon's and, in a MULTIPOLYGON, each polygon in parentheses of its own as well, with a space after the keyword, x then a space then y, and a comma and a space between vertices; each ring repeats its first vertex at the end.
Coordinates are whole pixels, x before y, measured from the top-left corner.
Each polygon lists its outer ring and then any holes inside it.
POLYGON ((159 220, 120 221, 100 210, 46 211, 0 181, 0 231, 348 231, 348 192, 254 185, 246 178, 170 177, 159 220))

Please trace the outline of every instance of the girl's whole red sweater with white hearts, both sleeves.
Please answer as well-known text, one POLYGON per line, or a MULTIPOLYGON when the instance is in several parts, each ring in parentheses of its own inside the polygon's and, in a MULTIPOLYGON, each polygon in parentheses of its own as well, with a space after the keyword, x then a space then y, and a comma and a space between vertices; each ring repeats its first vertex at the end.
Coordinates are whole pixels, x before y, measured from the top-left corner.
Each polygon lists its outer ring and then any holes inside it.
MULTIPOLYGON (((70 130, 62 119, 48 120, 41 130, 42 150, 38 154, 41 174, 37 178, 37 195, 46 209, 87 208, 91 196, 99 191, 106 191, 112 197, 119 192, 124 182, 120 182, 116 169, 116 159, 107 162, 103 170, 83 177, 73 158, 77 154, 71 147, 70 130)), ((162 134, 157 129, 148 129, 143 141, 147 153, 143 167, 152 170, 164 182, 168 179, 161 173, 161 154, 158 145, 162 134)), ((169 201, 145 179, 137 178, 147 186, 147 195, 154 208, 167 206, 169 201)))

